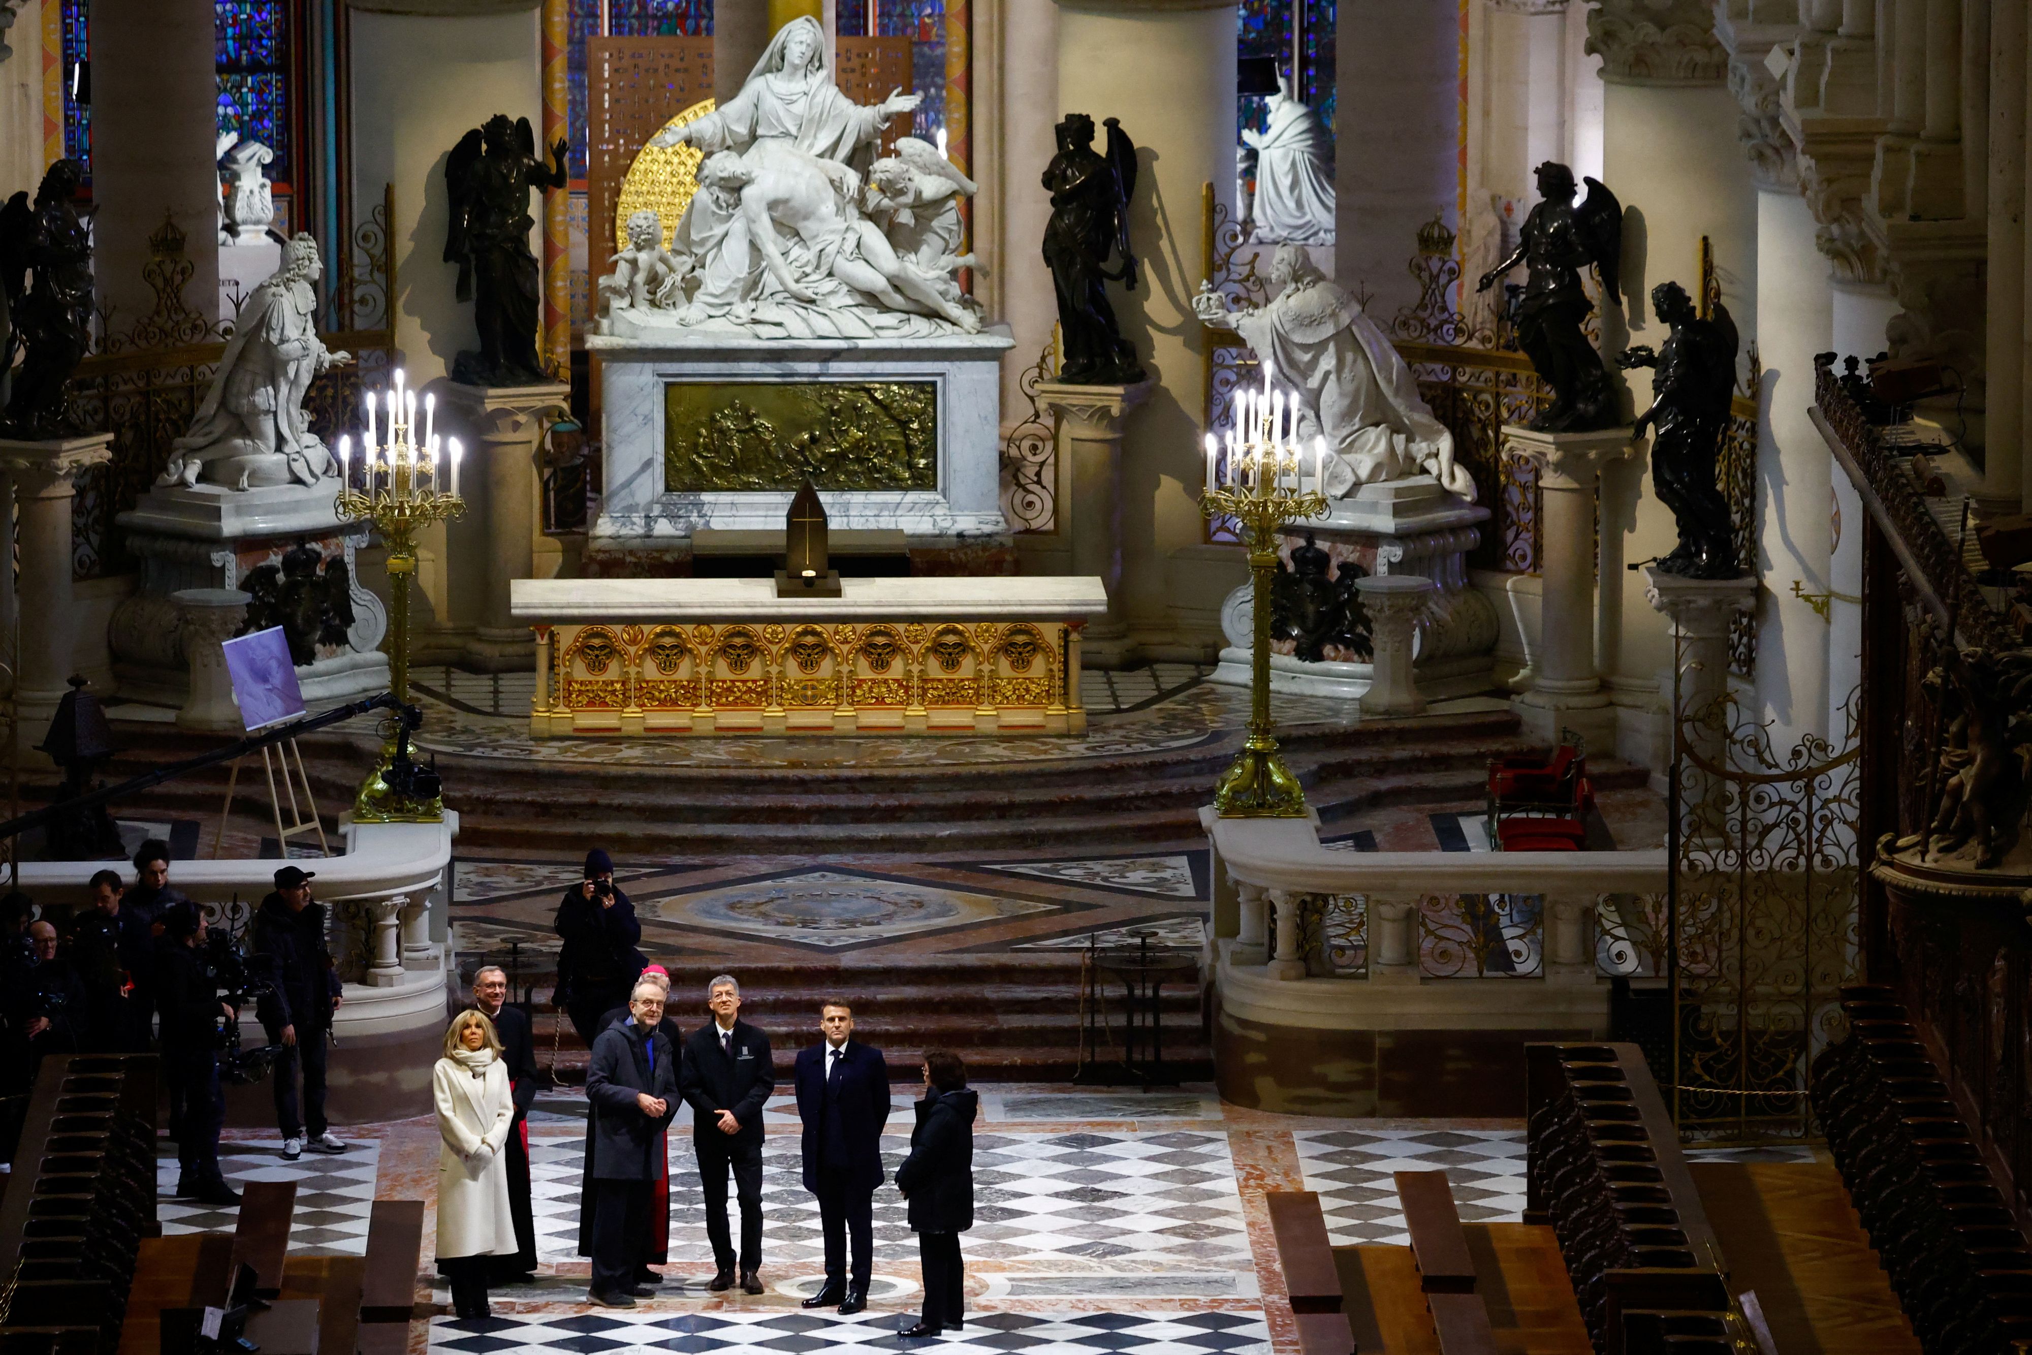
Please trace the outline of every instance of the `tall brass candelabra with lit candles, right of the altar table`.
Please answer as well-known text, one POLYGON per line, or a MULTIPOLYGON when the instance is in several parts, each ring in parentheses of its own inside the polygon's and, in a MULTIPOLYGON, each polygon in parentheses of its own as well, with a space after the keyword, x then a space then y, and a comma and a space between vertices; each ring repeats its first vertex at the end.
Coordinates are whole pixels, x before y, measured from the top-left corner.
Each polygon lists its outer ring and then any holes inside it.
POLYGON ((1303 819, 1305 786, 1276 752, 1270 725, 1270 589, 1276 583, 1276 530, 1286 522, 1327 512, 1327 439, 1313 443, 1313 490, 1305 488, 1298 453, 1298 400, 1272 390, 1235 392, 1242 433, 1225 443, 1207 435, 1207 490, 1199 508, 1209 518, 1233 518, 1250 549, 1254 579, 1250 640, 1250 737, 1213 788, 1213 809, 1223 819, 1303 819))

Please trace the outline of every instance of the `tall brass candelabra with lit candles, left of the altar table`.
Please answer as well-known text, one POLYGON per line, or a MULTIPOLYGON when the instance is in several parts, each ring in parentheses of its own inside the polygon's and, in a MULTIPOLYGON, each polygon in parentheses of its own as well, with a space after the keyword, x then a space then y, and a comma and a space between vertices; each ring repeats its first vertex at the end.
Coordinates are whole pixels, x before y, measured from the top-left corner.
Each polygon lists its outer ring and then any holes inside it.
MULTIPOLYGON (((459 439, 437 437, 437 396, 423 398, 417 429, 417 392, 394 386, 368 392, 366 437, 360 447, 362 488, 354 488, 352 437, 339 439, 337 514, 372 518, 388 551, 388 689, 408 707, 408 589, 417 577, 417 532, 465 512, 459 498, 459 439), (449 467, 449 483, 443 469, 449 467)), ((412 721, 398 709, 382 725, 380 766, 354 796, 354 823, 437 823, 445 817, 437 776, 408 758, 412 721)))

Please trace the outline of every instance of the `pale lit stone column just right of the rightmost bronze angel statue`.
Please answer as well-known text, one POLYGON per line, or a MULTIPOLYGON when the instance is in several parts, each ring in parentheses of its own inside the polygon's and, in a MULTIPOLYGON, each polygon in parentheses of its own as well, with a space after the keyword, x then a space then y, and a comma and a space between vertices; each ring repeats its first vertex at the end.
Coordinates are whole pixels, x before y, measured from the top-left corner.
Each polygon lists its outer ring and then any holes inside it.
MULTIPOLYGON (((1758 193, 1764 392, 1758 410, 1760 559, 1754 569, 1766 581, 1766 599, 1758 618, 1756 693, 1762 717, 1778 721, 1776 748, 1790 748, 1808 729, 1819 731, 1827 717, 1827 624, 1792 597, 1794 579, 1808 593, 1827 591, 1829 563, 1833 459, 1808 412, 1813 356, 1833 341, 1829 260, 1817 236, 1821 230, 1798 193, 1758 193)), ((1847 258, 1851 268, 1867 266, 1867 256, 1847 258)), ((1867 284, 1867 274, 1855 276, 1867 284)))

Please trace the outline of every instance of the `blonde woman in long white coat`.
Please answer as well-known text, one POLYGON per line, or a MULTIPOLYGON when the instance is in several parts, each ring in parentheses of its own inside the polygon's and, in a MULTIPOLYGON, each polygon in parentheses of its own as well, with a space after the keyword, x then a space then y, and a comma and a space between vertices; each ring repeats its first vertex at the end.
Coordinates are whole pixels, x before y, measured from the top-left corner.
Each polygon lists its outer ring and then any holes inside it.
POLYGON ((486 1257, 514 1255, 508 1213, 508 1127, 514 1097, 502 1042, 480 1012, 459 1012, 445 1032, 445 1056, 431 1071, 437 1097, 437 1266, 451 1278, 451 1306, 488 1316, 486 1257))

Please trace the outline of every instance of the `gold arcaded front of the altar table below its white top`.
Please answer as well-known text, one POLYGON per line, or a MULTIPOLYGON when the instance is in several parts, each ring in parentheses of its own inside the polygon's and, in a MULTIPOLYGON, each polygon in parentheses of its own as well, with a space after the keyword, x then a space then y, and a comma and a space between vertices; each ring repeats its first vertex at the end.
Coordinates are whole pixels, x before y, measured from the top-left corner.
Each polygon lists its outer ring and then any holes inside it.
POLYGON ((1085 733, 1065 622, 538 626, 536 735, 1085 733))

